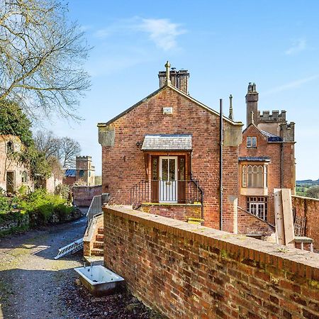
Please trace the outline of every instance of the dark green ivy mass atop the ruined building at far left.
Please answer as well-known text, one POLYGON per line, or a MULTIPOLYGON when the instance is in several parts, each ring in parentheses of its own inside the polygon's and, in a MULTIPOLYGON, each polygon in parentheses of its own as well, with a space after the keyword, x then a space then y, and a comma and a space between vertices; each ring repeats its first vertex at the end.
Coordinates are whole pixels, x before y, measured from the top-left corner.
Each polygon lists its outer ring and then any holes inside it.
POLYGON ((27 147, 34 145, 31 122, 17 103, 0 101, 0 134, 16 135, 27 147))

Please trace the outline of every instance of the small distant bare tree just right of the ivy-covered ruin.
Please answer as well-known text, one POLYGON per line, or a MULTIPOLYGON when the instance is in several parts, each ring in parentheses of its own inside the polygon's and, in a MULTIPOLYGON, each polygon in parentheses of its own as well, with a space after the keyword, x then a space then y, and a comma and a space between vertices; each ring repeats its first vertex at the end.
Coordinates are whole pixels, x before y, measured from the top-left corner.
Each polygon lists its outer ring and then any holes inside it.
POLYGON ((49 157, 57 157, 57 159, 60 159, 61 140, 57 138, 51 130, 48 132, 38 130, 33 140, 37 149, 45 153, 46 159, 49 157))

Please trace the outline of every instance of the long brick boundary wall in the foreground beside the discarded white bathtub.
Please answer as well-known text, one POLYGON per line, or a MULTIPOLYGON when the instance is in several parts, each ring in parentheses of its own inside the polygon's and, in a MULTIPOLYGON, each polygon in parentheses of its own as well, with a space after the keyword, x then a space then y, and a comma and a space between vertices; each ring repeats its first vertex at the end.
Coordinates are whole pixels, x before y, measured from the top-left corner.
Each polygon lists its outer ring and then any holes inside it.
POLYGON ((319 255, 105 207, 104 264, 169 318, 319 318, 319 255))

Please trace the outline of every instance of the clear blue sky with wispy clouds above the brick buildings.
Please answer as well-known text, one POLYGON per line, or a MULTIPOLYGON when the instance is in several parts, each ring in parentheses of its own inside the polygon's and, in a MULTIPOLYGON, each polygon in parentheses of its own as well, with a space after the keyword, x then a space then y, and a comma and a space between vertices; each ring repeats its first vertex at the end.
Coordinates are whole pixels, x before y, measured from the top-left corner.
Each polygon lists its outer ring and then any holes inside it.
MULTIPOLYGON (((91 89, 81 123, 48 128, 80 142, 101 174, 96 123, 106 122, 158 88, 166 60, 188 69, 189 93, 218 110, 233 94, 245 123, 248 82, 259 110, 287 111, 296 123, 296 177, 319 178, 318 1, 69 1, 69 18, 93 47, 91 89)), ((227 113, 227 112, 225 112, 227 113)))

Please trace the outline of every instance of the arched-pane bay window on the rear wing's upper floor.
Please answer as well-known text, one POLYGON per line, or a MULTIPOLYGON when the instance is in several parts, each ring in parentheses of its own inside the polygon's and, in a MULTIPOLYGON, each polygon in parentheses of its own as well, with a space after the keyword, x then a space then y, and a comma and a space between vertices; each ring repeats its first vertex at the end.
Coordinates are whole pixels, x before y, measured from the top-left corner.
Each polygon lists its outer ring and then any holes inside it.
POLYGON ((242 187, 267 187, 267 165, 243 165, 242 187))

